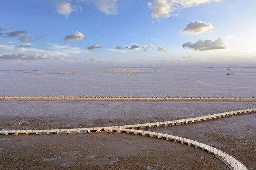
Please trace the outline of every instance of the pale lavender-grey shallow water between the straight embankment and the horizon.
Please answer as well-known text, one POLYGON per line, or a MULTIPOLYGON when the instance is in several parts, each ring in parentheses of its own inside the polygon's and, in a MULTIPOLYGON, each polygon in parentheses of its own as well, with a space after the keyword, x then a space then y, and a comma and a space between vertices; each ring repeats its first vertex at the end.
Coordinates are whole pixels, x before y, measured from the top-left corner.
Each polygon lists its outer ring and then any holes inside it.
POLYGON ((123 69, 74 66, 68 69, 41 68, 40 71, 10 68, 0 70, 0 73, 8 73, 0 74, 0 95, 255 97, 256 76, 251 75, 256 73, 252 74, 253 72, 256 72, 256 68, 199 66, 123 69), (37 76, 38 74, 43 75, 37 76))

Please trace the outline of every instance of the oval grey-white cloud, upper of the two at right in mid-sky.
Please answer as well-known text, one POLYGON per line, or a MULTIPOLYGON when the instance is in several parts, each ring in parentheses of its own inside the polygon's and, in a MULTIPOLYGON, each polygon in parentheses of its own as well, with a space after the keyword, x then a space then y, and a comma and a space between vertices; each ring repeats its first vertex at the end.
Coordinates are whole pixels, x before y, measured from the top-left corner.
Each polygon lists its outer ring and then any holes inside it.
POLYGON ((210 28, 213 28, 213 25, 209 23, 204 23, 201 21, 192 21, 180 32, 183 32, 186 34, 199 34, 199 33, 206 32, 210 28))

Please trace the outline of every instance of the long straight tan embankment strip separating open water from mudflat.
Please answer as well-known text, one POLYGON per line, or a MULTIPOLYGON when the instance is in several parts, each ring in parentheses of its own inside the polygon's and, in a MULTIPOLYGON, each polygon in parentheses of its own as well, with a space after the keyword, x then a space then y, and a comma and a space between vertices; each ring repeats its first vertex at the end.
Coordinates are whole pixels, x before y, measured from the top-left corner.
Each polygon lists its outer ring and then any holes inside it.
POLYGON ((75 97, 75 96, 0 96, 0 100, 72 100, 72 101, 239 101, 256 102, 255 97, 75 97))

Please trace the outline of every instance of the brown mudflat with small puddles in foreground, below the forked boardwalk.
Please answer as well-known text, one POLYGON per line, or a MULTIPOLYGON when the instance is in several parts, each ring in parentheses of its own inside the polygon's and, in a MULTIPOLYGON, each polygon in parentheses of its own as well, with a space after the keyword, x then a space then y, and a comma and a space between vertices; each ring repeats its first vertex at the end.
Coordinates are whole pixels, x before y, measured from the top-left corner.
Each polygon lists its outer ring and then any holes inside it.
POLYGON ((146 136, 93 132, 0 138, 2 170, 228 170, 207 152, 146 136))

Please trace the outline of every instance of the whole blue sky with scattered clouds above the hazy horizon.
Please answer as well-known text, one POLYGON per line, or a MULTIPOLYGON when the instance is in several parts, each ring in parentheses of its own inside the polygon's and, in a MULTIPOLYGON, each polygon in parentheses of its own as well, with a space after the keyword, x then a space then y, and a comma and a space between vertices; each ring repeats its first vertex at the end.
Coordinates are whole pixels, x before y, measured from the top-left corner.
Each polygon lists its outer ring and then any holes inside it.
POLYGON ((256 63, 256 0, 4 0, 0 63, 256 63))

